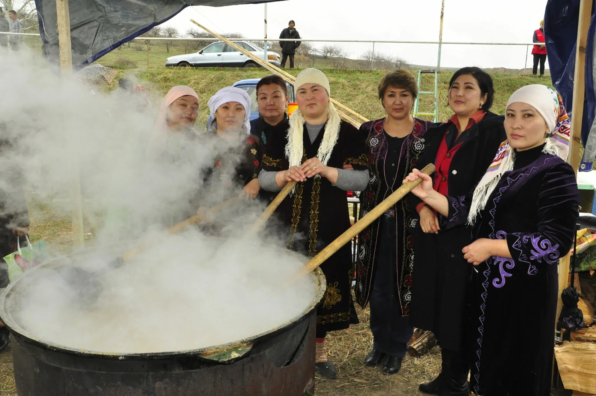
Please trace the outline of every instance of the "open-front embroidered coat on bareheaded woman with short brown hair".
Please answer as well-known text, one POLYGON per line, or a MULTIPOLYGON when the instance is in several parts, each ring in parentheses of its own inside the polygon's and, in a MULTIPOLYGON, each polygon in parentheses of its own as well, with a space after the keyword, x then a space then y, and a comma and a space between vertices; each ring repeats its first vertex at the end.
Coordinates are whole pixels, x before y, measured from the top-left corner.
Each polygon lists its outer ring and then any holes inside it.
MULTIPOLYGON (((399 157, 389 157, 387 138, 383 133, 384 119, 369 121, 360 127, 361 134, 367 137, 368 173, 367 188, 360 194, 360 216, 364 216, 402 185, 402 180, 417 166, 418 156, 424 150, 424 132, 432 124, 430 121, 414 119, 412 133, 403 141, 399 157), (386 175, 386 161, 403 162, 396 168, 397 175, 386 175), (394 180, 395 183, 387 180, 394 180), (388 185, 392 184, 392 185, 388 185)), ((422 165, 422 164, 421 164, 422 165)), ((396 217, 395 240, 398 252, 395 265, 395 296, 399 296, 402 315, 407 315, 412 298, 412 268, 414 264, 414 226, 417 218, 406 196, 393 207, 396 217)), ((356 301, 363 308, 368 304, 373 286, 376 249, 380 221, 377 219, 358 237, 358 261, 356 262, 356 301)))

